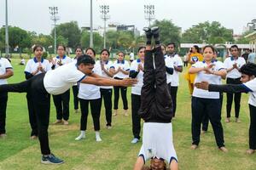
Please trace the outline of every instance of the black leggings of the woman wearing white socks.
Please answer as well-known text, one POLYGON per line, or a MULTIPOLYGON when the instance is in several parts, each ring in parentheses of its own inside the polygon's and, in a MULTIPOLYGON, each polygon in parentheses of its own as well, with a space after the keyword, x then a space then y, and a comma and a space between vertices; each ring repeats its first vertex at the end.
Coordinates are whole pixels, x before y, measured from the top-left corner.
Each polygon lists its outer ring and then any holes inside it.
POLYGON ((87 128, 87 118, 88 118, 88 107, 90 102, 90 112, 93 119, 94 130, 100 130, 100 103, 101 99, 79 99, 81 108, 81 119, 80 119, 80 130, 85 131, 87 128))

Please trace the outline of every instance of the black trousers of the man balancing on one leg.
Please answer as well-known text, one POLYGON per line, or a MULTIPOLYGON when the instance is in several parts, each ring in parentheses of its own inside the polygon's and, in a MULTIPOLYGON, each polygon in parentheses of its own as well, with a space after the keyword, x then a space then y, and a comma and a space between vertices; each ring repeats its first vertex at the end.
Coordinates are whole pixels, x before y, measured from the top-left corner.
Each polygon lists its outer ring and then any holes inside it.
POLYGON ((38 125, 38 139, 40 142, 41 153, 43 155, 49 155, 49 139, 48 139, 48 127, 49 127, 49 107, 50 107, 50 95, 44 88, 44 73, 32 77, 25 82, 15 84, 5 84, 0 86, 1 92, 31 92, 33 106, 35 109, 38 125))

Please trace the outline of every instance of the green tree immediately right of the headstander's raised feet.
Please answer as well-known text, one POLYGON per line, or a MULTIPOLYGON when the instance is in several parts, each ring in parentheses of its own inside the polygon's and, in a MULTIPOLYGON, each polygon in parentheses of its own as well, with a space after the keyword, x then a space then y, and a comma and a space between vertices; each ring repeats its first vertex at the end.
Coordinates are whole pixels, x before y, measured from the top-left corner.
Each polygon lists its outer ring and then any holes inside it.
POLYGON ((153 26, 160 27, 160 40, 162 43, 175 42, 179 44, 181 42, 181 28, 175 26, 172 20, 155 20, 153 26))

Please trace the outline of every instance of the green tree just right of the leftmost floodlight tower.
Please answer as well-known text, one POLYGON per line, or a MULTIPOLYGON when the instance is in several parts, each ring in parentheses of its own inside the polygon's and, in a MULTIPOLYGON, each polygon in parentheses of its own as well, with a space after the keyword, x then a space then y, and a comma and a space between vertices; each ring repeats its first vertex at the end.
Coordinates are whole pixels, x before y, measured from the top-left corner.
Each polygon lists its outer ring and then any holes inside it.
MULTIPOLYGON (((52 37, 54 37, 54 30, 51 31, 52 37)), ((71 21, 56 26, 57 37, 64 37, 67 40, 67 46, 70 48, 76 48, 79 45, 81 39, 81 30, 77 21, 71 21)))

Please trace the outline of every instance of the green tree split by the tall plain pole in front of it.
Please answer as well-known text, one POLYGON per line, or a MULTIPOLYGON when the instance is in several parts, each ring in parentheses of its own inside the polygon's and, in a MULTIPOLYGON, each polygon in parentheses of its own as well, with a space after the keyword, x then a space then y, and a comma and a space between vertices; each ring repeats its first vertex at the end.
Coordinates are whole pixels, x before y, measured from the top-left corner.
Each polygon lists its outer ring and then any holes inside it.
MULTIPOLYGON (((80 40, 80 44, 82 48, 89 48, 90 47, 90 32, 89 31, 83 31, 82 37, 80 40)), ((99 52, 103 48, 103 37, 97 33, 93 32, 93 45, 94 49, 99 52)))

